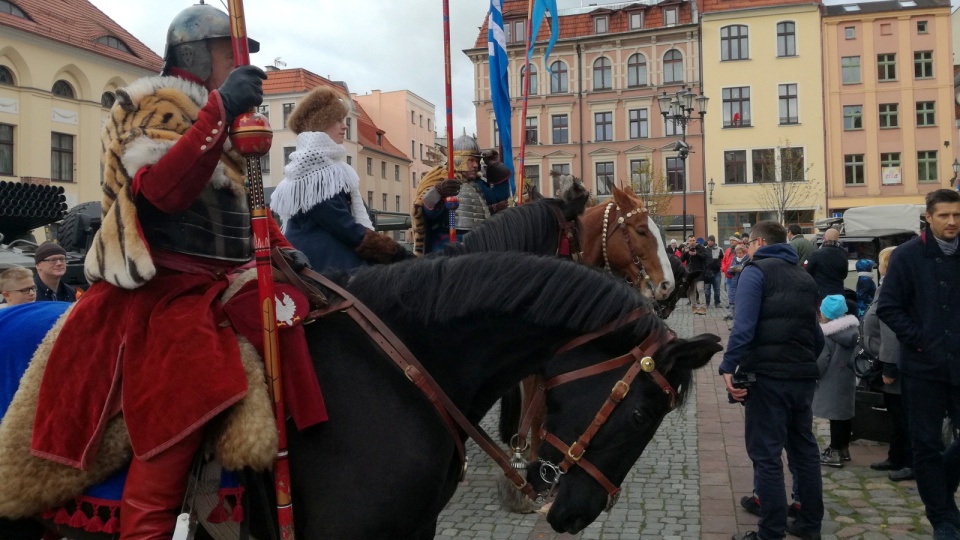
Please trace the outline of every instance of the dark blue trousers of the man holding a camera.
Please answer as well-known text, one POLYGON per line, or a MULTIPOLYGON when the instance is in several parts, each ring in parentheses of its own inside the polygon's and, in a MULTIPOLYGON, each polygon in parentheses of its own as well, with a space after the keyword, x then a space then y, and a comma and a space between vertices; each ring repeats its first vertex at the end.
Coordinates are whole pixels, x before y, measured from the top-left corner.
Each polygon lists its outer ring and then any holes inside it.
POLYGON ((823 483, 812 408, 816 388, 813 379, 758 375, 747 393, 744 438, 760 499, 757 534, 765 540, 783 538, 787 527, 787 490, 781 459, 784 449, 793 466, 794 491, 801 503, 796 527, 804 533, 820 533, 823 483))

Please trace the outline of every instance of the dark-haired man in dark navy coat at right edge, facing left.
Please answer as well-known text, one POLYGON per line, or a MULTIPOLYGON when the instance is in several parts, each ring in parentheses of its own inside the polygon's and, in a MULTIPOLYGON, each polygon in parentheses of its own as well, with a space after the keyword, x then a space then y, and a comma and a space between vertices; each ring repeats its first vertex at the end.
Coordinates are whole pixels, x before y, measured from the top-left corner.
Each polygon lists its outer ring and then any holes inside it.
POLYGON ((877 315, 900 341, 917 490, 933 537, 960 538, 960 442, 943 451, 945 414, 960 418, 960 193, 927 195, 928 228, 890 256, 877 315))

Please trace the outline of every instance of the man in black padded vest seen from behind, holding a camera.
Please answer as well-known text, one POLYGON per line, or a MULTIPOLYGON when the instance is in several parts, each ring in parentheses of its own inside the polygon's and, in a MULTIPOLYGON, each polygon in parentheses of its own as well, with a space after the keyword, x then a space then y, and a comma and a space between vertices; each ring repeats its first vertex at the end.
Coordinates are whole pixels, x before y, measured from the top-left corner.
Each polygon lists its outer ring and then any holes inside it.
POLYGON ((746 407, 744 438, 761 501, 758 530, 736 534, 734 540, 779 539, 785 532, 802 540, 820 538, 823 484, 812 405, 823 333, 817 323, 817 285, 797 265, 797 253, 786 241, 786 230, 774 221, 751 230, 751 261, 740 274, 733 329, 720 364, 730 397, 746 407), (756 379, 749 389, 737 382, 748 373, 756 379), (802 503, 790 526, 784 448, 802 503))

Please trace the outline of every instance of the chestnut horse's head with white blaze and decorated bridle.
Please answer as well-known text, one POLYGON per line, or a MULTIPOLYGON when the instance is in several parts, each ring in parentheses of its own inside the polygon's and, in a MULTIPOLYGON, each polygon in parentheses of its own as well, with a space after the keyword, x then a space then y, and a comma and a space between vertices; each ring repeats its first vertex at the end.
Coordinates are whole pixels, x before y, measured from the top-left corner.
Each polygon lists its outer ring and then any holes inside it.
POLYGON ((644 296, 665 300, 675 281, 663 237, 643 200, 614 186, 613 198, 580 217, 583 262, 623 273, 644 296))

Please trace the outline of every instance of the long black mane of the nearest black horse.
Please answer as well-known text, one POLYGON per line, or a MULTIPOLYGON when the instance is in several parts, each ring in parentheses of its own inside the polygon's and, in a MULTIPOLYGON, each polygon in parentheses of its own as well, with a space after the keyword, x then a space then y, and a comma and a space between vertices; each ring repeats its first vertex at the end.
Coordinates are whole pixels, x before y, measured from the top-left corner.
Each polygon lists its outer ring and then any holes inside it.
MULTIPOLYGON (((374 266, 348 284, 377 313, 402 312, 426 327, 495 316, 527 324, 592 332, 637 307, 651 307, 628 284, 552 256, 488 252, 374 266)), ((642 318, 649 331, 661 324, 642 318)))

